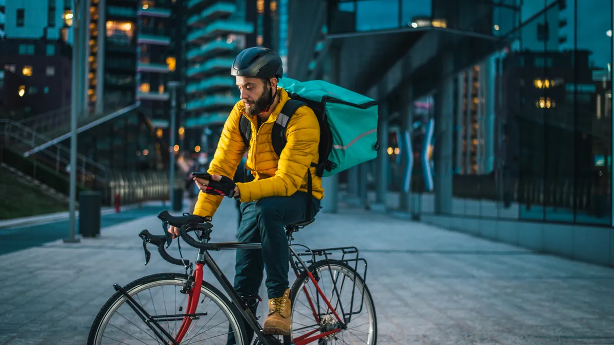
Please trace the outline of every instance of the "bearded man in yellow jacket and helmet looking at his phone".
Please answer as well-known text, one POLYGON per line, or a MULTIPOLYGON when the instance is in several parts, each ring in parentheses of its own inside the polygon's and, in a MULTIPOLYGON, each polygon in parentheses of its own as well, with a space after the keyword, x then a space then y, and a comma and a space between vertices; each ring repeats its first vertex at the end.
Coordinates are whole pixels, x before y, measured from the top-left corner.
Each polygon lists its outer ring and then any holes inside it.
MULTIPOLYGON (((208 170, 211 180, 195 179, 201 193, 194 214, 212 216, 223 196, 241 200, 238 240, 262 242, 262 251, 237 250, 235 289, 246 300, 252 298, 254 301, 264 268, 269 298, 264 332, 289 335, 289 247, 284 225, 301 222, 319 211, 324 190, 311 163, 317 163, 319 158, 320 127, 313 110, 300 107, 287 123, 286 146, 281 157, 277 157, 271 144, 271 129, 289 99, 287 92, 277 87, 282 76, 281 58, 268 48, 247 48, 236 56, 231 75, 236 77, 241 101, 235 104, 224 125, 208 170), (239 131, 241 117, 247 117, 251 122, 249 148, 239 131), (246 149, 246 167, 255 179, 235 184, 230 177, 235 174, 246 149), (311 174, 313 181, 311 198, 306 195, 307 174, 311 174), (306 200, 311 201, 309 217, 306 200)), ((176 228, 169 231, 174 236, 179 233, 176 228)), ((255 310, 255 301, 251 305, 255 310)), ((253 333, 248 343, 252 336, 253 333)))

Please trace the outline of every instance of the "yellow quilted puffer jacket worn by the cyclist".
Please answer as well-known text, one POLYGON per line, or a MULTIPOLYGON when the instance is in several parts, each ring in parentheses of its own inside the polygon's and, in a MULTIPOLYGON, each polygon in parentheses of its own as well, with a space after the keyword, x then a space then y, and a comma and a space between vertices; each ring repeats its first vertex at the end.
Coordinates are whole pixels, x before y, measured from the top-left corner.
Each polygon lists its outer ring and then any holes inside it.
MULTIPOLYGON (((278 88, 279 103, 271 116, 257 129, 257 119, 245 114, 243 101, 235 104, 224 124, 216 153, 209 165, 209 174, 235 175, 246 147, 239 131, 239 120, 246 116, 252 123, 252 139, 247 152, 246 167, 252 171, 252 182, 238 183, 241 201, 257 201, 267 196, 290 196, 300 190, 307 192, 307 170, 311 173, 313 196, 324 198, 322 179, 316 176, 311 163, 318 160, 320 126, 316 114, 309 107, 300 107, 286 126, 286 146, 278 157, 271 143, 271 130, 282 107, 289 99, 283 88, 278 88), (254 134, 255 133, 255 134, 254 134)), ((223 196, 198 193, 194 214, 213 216, 223 196)))

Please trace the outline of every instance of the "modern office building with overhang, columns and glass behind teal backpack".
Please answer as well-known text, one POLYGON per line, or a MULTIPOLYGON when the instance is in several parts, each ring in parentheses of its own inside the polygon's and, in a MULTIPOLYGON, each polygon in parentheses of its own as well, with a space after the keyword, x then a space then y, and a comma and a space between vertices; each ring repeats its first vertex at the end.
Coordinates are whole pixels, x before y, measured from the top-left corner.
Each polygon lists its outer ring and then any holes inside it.
POLYGON ((339 179, 344 202, 614 265, 612 0, 405 5, 289 6, 289 75, 381 110, 387 149, 325 179, 322 211, 339 179))

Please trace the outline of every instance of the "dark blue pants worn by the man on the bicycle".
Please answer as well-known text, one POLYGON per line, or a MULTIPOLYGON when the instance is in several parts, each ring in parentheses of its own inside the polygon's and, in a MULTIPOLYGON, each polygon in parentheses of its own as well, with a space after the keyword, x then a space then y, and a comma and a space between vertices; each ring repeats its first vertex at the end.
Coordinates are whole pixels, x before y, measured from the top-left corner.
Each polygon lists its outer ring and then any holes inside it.
MULTIPOLYGON (((266 269, 265 285, 268 298, 284 295, 289 287, 290 269, 290 249, 284 226, 308 219, 307 200, 307 193, 296 192, 291 196, 270 196, 250 203, 241 203, 239 206, 241 222, 237 241, 262 242, 262 250, 236 251, 234 286, 239 295, 243 297, 258 295, 264 269, 266 269)), ((318 211, 320 211, 320 201, 312 197, 311 217, 314 217, 318 211)), ((255 309, 256 306, 252 312, 255 312, 255 309)), ((254 334, 249 327, 247 328, 248 343, 251 343, 254 334)), ((228 344, 234 344, 233 341, 234 337, 230 336, 228 344)))

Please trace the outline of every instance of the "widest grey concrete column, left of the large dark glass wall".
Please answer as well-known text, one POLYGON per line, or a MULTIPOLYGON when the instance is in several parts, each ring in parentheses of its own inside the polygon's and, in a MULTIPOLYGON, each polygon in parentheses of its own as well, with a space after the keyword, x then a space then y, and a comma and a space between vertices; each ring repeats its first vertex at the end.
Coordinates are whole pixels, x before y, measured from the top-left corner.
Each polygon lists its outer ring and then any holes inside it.
POLYGON ((443 63, 442 80, 435 93, 435 212, 452 212, 452 162, 453 162, 453 99, 454 76, 453 56, 446 56, 443 63))

